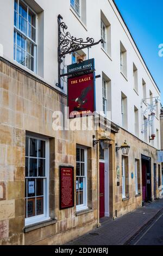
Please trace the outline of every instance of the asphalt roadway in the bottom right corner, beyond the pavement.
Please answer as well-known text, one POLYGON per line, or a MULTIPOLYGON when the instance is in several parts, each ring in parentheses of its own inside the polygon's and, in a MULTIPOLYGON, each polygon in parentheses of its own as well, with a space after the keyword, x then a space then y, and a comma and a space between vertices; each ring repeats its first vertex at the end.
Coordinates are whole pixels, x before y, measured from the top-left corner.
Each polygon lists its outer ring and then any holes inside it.
POLYGON ((127 245, 163 245, 163 211, 127 245))

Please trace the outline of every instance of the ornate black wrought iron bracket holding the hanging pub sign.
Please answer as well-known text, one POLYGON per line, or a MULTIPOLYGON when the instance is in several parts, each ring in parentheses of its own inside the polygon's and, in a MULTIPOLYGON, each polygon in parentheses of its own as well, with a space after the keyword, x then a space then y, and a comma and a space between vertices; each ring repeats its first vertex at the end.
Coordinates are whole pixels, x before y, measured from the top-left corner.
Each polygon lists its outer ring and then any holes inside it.
POLYGON ((93 38, 86 38, 84 41, 82 38, 76 38, 71 36, 70 32, 67 31, 65 22, 61 22, 62 16, 58 15, 58 83, 57 87, 63 89, 61 86, 61 63, 65 58, 66 54, 83 50, 94 45, 98 45, 99 42, 103 43, 103 40, 95 42, 93 38))

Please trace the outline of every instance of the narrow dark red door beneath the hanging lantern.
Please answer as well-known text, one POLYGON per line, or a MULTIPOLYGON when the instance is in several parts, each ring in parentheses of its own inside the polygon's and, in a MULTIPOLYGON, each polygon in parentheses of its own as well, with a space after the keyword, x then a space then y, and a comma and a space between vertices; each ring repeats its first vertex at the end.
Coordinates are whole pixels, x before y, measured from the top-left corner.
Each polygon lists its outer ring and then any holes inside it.
POLYGON ((99 163, 99 217, 105 216, 105 164, 99 163))

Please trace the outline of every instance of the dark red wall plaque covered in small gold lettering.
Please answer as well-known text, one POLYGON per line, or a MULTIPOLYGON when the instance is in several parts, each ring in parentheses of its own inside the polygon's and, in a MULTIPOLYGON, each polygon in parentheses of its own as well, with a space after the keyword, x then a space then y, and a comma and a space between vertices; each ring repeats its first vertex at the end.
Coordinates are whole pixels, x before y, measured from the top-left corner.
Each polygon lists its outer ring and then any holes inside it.
POLYGON ((74 206, 74 169, 60 166, 60 210, 74 206))

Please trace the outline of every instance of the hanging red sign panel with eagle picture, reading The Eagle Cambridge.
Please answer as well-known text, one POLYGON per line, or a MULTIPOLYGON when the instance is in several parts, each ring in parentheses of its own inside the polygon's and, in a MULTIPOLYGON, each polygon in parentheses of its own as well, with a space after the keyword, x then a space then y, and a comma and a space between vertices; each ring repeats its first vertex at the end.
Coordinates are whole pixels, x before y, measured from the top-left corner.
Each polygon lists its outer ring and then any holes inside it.
POLYGON ((68 78, 69 117, 92 115, 95 111, 94 74, 68 78))

